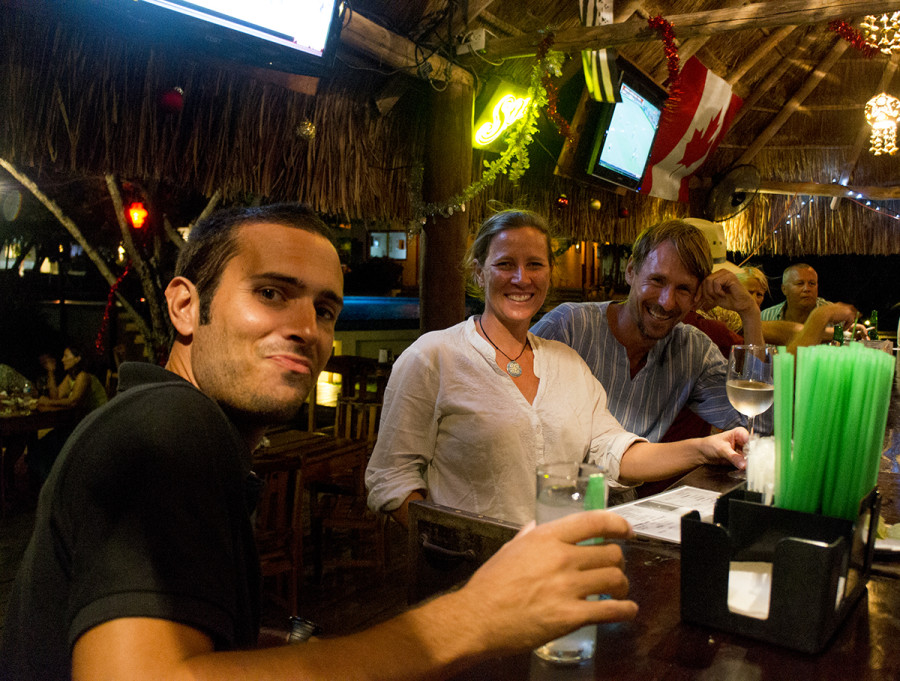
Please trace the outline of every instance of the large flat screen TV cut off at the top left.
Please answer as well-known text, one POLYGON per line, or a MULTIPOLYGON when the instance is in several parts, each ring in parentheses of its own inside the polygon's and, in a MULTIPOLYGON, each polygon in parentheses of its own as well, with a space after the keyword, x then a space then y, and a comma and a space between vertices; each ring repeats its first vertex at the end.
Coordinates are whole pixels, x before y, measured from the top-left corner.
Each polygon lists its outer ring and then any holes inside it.
POLYGON ((341 29, 341 0, 93 0, 83 18, 105 19, 133 41, 200 50, 251 66, 325 75, 341 29), (91 17, 90 15, 93 15, 91 17))

